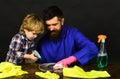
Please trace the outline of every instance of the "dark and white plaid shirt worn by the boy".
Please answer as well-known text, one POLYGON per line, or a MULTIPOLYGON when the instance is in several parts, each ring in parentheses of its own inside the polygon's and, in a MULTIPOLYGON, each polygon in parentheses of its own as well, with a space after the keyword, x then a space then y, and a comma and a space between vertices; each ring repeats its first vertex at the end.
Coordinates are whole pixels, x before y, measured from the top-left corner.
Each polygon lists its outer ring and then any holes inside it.
POLYGON ((13 63, 17 58, 22 62, 24 54, 31 54, 33 50, 35 50, 34 40, 28 40, 25 35, 17 33, 9 45, 6 61, 13 63))

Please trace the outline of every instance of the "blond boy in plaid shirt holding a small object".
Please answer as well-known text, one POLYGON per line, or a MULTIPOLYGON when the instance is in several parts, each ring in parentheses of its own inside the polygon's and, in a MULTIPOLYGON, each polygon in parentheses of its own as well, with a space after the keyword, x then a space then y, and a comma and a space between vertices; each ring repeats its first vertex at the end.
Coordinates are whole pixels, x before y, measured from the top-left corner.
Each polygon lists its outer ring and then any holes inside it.
POLYGON ((40 55, 35 50, 34 39, 37 34, 44 32, 44 26, 41 19, 34 13, 28 14, 17 33, 9 45, 6 61, 14 63, 22 63, 27 60, 37 61, 40 55))

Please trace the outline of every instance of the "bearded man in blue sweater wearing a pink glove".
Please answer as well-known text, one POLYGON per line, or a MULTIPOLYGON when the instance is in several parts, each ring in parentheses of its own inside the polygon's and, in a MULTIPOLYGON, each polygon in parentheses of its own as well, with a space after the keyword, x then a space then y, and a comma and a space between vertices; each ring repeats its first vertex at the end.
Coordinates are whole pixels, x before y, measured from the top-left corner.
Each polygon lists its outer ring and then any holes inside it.
POLYGON ((37 50, 41 55, 39 63, 56 63, 60 69, 70 65, 85 65, 97 57, 98 48, 77 28, 64 25, 63 12, 57 6, 43 10, 43 21, 47 33, 39 40, 37 50))

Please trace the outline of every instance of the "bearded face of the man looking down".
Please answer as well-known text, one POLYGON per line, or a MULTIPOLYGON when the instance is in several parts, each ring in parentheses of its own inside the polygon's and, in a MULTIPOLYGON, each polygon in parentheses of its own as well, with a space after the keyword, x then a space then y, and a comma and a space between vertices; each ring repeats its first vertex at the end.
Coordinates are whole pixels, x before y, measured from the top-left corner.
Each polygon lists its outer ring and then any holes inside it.
POLYGON ((59 39, 61 33, 61 27, 64 23, 64 19, 59 20, 58 17, 54 17, 46 21, 48 33, 52 40, 59 39))

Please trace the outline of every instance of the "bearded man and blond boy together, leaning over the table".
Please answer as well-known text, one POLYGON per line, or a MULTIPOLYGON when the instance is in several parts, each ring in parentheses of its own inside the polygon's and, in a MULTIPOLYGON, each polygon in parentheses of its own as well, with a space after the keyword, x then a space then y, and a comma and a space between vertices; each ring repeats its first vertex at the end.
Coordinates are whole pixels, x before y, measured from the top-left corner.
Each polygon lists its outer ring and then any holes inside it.
POLYGON ((49 6, 42 19, 35 13, 26 15, 20 30, 9 45, 6 61, 15 65, 28 62, 56 63, 60 69, 70 65, 86 65, 96 58, 97 46, 77 28, 64 25, 63 12, 58 6, 49 6), (35 46, 35 38, 43 34, 35 46))

